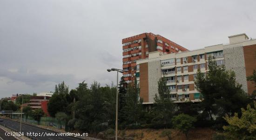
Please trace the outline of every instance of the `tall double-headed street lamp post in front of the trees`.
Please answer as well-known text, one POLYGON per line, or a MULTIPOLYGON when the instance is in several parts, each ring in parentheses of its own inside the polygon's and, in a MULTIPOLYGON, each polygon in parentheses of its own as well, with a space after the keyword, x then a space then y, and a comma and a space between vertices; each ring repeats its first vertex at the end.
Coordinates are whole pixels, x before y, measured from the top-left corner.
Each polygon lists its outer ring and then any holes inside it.
POLYGON ((118 72, 123 73, 127 72, 128 70, 121 70, 121 69, 108 69, 108 72, 110 71, 117 71, 117 76, 116 76, 116 108, 115 108, 115 140, 117 140, 117 120, 118 120, 118 72))

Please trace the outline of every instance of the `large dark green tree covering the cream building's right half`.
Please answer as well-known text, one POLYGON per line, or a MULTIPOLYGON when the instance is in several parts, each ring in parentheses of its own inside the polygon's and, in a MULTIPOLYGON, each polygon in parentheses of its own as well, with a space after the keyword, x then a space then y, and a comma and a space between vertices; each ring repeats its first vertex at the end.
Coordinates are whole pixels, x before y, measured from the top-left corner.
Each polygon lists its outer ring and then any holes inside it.
POLYGON ((212 57, 209 57, 208 62, 207 75, 198 70, 195 78, 196 89, 203 95, 200 106, 209 114, 211 120, 212 114, 220 118, 225 114, 230 116, 244 107, 249 100, 241 88, 242 85, 236 83, 234 71, 225 70, 224 65, 218 66, 212 57))

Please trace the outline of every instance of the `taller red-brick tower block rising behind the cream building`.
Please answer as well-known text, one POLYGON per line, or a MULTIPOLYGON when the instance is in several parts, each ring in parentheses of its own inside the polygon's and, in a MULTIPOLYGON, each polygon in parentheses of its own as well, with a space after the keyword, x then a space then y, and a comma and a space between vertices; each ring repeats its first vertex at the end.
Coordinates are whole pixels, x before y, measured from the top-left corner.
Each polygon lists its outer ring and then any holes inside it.
POLYGON ((123 73, 125 81, 132 82, 139 67, 136 61, 148 57, 148 53, 160 51, 163 54, 175 53, 178 51, 188 51, 188 49, 153 33, 142 33, 133 37, 122 39, 123 49, 123 69, 129 70, 123 73))

